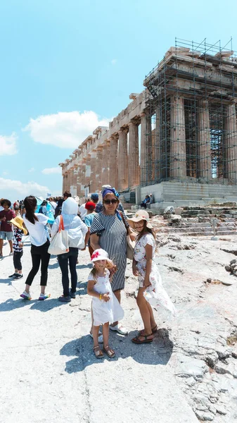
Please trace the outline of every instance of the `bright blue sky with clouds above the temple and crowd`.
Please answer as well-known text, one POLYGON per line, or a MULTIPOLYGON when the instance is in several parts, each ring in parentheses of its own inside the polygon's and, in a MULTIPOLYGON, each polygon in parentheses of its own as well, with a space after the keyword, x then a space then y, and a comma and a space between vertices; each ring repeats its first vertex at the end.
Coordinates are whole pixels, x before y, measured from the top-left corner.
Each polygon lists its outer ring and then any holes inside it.
POLYGON ((1 1, 0 197, 60 193, 58 163, 143 90, 175 37, 232 36, 237 50, 236 12, 236 0, 1 1))

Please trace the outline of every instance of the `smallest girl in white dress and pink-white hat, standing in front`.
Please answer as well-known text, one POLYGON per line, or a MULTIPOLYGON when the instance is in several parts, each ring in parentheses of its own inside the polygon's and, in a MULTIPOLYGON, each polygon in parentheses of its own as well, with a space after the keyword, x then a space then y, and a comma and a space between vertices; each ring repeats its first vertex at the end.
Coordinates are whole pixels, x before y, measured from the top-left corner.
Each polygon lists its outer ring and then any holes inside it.
POLYGON ((113 358, 115 357, 115 351, 108 344, 109 324, 124 317, 124 311, 110 285, 113 278, 113 273, 110 270, 114 268, 114 264, 108 259, 108 253, 102 248, 94 251, 91 255, 91 262, 94 263, 94 268, 89 274, 87 293, 93 297, 94 324, 92 334, 94 354, 96 358, 102 358, 104 352, 109 358, 113 358), (103 325, 103 351, 98 346, 98 331, 101 324, 103 325))

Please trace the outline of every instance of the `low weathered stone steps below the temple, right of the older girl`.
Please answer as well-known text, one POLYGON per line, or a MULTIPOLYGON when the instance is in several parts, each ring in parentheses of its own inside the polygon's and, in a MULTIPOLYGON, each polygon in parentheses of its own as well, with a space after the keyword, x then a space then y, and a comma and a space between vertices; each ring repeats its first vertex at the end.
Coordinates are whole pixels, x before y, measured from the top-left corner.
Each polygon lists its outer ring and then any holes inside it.
POLYGON ((212 236, 213 221, 216 235, 237 233, 237 207, 184 207, 181 220, 171 223, 157 216, 154 226, 158 233, 183 233, 184 235, 212 236))

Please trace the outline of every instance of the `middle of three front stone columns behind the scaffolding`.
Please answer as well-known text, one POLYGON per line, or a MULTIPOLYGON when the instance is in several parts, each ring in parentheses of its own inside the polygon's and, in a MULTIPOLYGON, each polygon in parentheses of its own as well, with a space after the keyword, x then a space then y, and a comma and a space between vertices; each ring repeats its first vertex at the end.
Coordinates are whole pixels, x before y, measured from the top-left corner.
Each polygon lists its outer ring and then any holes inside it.
POLYGON ((210 118, 205 99, 198 103, 198 176, 206 180, 212 178, 210 118))

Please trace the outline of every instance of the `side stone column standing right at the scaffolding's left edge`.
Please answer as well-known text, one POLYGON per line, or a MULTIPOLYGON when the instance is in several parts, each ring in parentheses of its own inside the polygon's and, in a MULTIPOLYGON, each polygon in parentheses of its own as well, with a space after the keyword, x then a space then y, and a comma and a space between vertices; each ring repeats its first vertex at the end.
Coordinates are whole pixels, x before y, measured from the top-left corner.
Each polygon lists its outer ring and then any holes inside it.
POLYGON ((151 180, 151 125, 150 116, 141 113, 140 184, 148 185, 151 180))

